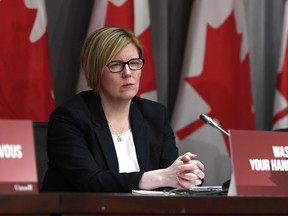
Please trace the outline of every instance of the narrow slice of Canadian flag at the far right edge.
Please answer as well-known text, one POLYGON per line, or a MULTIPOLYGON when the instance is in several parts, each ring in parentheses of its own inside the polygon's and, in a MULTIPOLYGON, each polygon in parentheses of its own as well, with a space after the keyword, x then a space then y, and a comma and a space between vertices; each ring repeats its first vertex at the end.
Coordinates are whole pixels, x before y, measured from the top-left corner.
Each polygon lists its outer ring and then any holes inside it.
POLYGON ((274 102, 273 129, 288 128, 288 1, 285 3, 282 45, 274 102))

